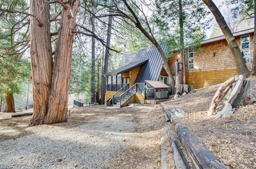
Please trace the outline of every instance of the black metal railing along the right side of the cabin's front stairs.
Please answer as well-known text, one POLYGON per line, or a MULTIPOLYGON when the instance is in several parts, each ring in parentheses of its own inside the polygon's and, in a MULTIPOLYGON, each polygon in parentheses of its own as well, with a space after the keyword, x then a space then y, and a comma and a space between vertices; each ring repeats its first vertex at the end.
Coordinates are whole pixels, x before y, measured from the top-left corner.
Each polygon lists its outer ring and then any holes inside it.
POLYGON ((120 106, 136 93, 145 93, 145 83, 135 83, 131 88, 120 95, 120 106))

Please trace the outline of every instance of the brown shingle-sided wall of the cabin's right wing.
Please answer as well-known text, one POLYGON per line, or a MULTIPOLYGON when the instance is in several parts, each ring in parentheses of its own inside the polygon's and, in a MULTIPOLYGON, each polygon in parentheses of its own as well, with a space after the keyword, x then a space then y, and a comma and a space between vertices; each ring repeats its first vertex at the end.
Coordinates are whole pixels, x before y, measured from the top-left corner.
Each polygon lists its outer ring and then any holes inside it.
MULTIPOLYGON (((239 47, 241 47, 241 36, 237 36, 236 40, 239 47)), ((194 85, 196 89, 199 89, 217 85, 238 74, 233 56, 225 39, 203 44, 201 48, 204 51, 195 51, 194 53, 194 69, 188 70, 188 57, 186 56, 186 79, 188 85, 194 85), (213 56, 214 53, 215 56, 213 56)), ((179 57, 180 54, 178 53, 169 60, 172 73, 175 73, 175 61, 179 57)), ((246 64, 249 70, 252 67, 252 58, 253 33, 250 33, 250 64, 246 64)))

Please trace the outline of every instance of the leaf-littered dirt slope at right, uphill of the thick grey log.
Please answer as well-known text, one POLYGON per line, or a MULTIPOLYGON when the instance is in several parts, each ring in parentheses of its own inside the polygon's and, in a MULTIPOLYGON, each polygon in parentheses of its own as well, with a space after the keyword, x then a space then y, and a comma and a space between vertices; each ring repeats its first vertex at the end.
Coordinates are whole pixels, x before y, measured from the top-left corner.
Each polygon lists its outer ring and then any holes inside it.
MULTIPOLYGON (((256 96, 256 78, 253 92, 256 96)), ((231 116, 216 119, 208 117, 207 111, 217 87, 197 90, 176 100, 166 102, 167 106, 186 112, 182 120, 196 137, 230 168, 255 168, 256 165, 256 103, 237 109, 231 116)))

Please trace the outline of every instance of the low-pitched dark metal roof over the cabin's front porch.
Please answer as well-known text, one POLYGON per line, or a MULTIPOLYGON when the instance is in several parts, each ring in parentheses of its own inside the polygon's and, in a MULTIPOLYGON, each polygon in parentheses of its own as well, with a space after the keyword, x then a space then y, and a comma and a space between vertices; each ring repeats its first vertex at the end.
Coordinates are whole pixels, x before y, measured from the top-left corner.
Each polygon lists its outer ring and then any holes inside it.
POLYGON ((142 64, 144 64, 145 62, 147 62, 148 59, 146 60, 141 60, 141 61, 136 61, 136 62, 132 62, 131 64, 128 64, 128 65, 125 65, 123 67, 119 67, 118 69, 116 70, 113 70, 111 72, 108 72, 106 74, 104 74, 104 76, 115 76, 115 75, 118 75, 120 73, 123 73, 123 72, 126 72, 128 70, 131 70, 137 66, 140 66, 142 64))

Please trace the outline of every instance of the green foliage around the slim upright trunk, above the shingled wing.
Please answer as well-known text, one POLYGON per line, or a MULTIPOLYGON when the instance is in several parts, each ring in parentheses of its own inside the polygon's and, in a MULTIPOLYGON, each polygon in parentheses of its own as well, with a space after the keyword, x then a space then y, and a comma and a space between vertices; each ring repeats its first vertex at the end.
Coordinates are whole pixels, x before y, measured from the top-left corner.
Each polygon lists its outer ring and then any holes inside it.
POLYGON ((155 1, 156 11, 152 20, 159 29, 159 38, 167 43, 168 54, 186 48, 200 47, 200 41, 205 39, 205 30, 209 28, 206 20, 209 11, 201 0, 180 1, 182 11, 179 11, 179 0, 155 1), (180 25, 183 25, 181 30, 180 25), (184 42, 181 40, 184 37, 184 42))

